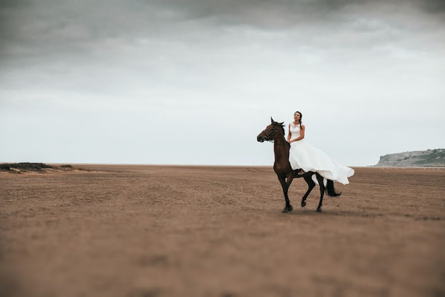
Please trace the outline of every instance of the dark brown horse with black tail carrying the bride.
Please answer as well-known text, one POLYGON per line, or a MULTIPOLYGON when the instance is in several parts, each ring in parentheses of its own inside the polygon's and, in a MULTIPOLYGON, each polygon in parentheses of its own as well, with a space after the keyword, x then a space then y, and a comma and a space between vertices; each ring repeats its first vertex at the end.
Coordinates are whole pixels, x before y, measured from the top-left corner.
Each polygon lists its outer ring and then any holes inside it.
POLYGON ((270 118, 271 124, 266 127, 260 134, 257 136, 257 141, 259 142, 273 142, 273 152, 275 153, 275 162, 273 163, 273 170, 278 176, 278 180, 280 181, 281 187, 283 188, 284 199, 286 200, 286 206, 283 209, 283 212, 292 211, 293 207, 290 204, 289 197, 287 196, 287 191, 292 183, 294 178, 302 177, 305 179, 306 183, 308 183, 309 189, 306 192, 305 196, 301 200, 301 207, 306 206, 306 198, 308 198, 309 193, 311 193, 313 187, 315 187, 315 183, 312 180, 312 175, 315 174, 315 177, 320 185, 320 202, 318 203, 317 211, 321 211, 321 205, 323 202, 323 195, 326 192, 328 196, 337 197, 340 196, 341 193, 335 192, 334 182, 331 180, 327 180, 326 187, 323 183, 323 177, 318 174, 318 172, 306 172, 302 175, 298 174, 298 169, 293 170, 290 162, 289 162, 289 148, 290 144, 284 139, 284 125, 283 123, 277 123, 272 118, 270 118))

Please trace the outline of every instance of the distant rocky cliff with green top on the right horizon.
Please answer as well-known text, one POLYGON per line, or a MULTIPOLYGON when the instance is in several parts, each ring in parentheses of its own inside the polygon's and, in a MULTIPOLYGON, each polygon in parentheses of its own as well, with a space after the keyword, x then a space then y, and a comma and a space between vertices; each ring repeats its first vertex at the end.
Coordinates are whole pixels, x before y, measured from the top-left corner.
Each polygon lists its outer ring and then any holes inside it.
POLYGON ((445 167, 445 148, 387 154, 375 166, 445 167))

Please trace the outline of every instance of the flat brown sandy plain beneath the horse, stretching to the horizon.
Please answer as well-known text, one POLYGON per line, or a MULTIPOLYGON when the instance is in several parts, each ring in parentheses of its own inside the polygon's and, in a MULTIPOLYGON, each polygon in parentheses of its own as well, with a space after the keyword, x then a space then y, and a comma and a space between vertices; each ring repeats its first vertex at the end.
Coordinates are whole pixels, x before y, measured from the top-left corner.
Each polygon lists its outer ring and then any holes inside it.
POLYGON ((0 296, 445 296, 444 168, 75 167, 0 172, 0 296))

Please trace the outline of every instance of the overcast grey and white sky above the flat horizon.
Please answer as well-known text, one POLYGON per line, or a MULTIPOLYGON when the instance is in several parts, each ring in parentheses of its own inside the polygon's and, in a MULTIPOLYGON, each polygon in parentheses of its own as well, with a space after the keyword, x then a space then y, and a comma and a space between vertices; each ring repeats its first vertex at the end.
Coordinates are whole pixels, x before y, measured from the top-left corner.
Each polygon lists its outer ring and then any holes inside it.
POLYGON ((445 2, 0 0, 0 161, 349 166, 445 148, 445 2))

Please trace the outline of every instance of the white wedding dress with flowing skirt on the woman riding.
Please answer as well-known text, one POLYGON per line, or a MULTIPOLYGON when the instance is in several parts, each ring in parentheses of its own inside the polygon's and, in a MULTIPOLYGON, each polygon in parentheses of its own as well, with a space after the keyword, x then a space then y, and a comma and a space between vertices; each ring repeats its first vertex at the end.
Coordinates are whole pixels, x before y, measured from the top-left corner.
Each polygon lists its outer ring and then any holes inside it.
MULTIPOLYGON (((290 124, 290 132, 292 133, 291 140, 299 138, 300 125, 290 124)), ((354 175, 354 169, 340 165, 323 151, 312 147, 305 139, 291 143, 289 162, 294 170, 302 168, 306 172, 318 172, 325 178, 325 185, 326 179, 347 185, 349 184, 348 177, 354 175)), ((312 180, 318 184, 315 174, 312 175, 312 180)))

